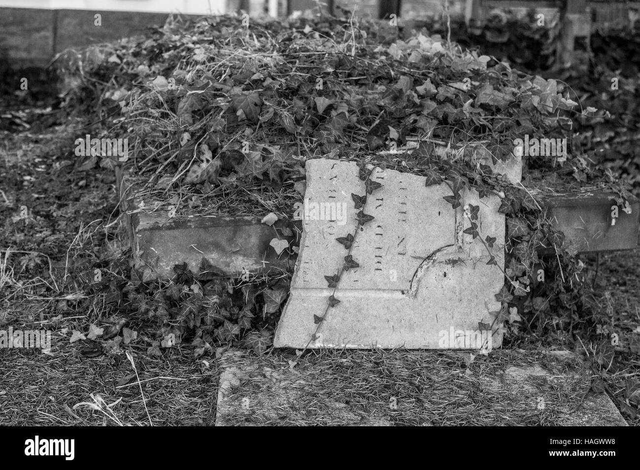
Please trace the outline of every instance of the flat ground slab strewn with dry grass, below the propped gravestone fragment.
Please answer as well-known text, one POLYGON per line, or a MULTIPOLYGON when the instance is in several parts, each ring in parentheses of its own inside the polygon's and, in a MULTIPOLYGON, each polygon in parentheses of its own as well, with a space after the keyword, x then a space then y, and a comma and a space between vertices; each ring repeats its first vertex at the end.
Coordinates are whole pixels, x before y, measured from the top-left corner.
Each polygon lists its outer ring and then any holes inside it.
POLYGON ((221 363, 216 426, 627 426, 566 352, 229 350, 221 363))

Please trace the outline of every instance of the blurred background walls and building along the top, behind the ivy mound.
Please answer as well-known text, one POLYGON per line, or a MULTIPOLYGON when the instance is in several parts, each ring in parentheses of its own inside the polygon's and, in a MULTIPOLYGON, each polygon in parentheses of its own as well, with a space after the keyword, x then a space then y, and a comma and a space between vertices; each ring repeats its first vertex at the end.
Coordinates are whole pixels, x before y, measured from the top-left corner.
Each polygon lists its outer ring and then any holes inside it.
POLYGON ((580 12, 573 21, 573 33, 582 36, 588 35, 593 24, 620 23, 632 13, 637 17, 637 9, 631 8, 637 6, 637 0, 0 0, 0 68, 7 61, 14 67, 42 66, 68 47, 138 35, 148 26, 163 24, 170 13, 199 17, 247 12, 283 17, 317 13, 320 4, 339 15, 344 10, 360 18, 388 19, 396 14, 402 21, 442 15, 445 3, 452 18, 465 16, 467 21, 482 22, 496 7, 520 15, 536 8, 545 13, 548 24, 556 21, 559 6, 573 5, 580 12), (545 6, 547 10, 542 10, 545 6), (97 13, 101 26, 94 22, 97 13))

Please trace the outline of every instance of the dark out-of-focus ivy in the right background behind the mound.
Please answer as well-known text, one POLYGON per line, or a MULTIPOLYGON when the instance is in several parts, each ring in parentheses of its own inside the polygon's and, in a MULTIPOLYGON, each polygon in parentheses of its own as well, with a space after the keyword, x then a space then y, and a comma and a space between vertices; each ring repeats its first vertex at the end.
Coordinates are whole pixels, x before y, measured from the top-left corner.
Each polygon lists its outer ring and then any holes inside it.
MULTIPOLYGON (((442 19, 420 24, 445 32, 442 19)), ((538 26, 533 10, 523 18, 512 13, 491 17, 477 28, 452 21, 451 37, 465 47, 508 61, 518 70, 554 77, 564 82, 584 109, 598 109, 590 119, 574 120, 574 152, 592 165, 611 170, 640 196, 640 159, 634 155, 640 139, 638 26, 597 29, 588 43, 579 40, 575 60, 568 68, 556 64, 559 24, 538 26)))

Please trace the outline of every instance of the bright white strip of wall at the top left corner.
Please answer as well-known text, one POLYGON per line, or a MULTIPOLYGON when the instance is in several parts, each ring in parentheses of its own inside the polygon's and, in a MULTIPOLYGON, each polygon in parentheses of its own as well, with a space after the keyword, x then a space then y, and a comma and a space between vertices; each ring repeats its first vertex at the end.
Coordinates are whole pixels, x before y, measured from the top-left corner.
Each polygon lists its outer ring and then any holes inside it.
POLYGON ((227 0, 0 0, 2 7, 216 15, 227 12, 227 0))

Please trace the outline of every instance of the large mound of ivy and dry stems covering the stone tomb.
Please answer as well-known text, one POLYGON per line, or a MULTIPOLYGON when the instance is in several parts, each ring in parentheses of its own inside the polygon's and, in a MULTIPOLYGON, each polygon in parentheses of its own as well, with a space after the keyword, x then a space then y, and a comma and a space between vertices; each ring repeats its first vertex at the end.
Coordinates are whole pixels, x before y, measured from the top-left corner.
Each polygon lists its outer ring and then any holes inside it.
MULTIPOLYGON (((571 139, 575 120, 602 120, 605 112, 582 109, 563 82, 514 70, 439 35, 397 37, 388 26, 335 18, 216 17, 168 22, 143 38, 68 53, 58 65, 68 111, 102 120, 106 137, 129 139, 125 169, 155 201, 150 210, 291 219, 307 159, 410 171, 428 185, 449 185, 453 208, 463 188, 501 199, 508 282, 496 293, 497 320, 511 320, 509 331, 520 325, 513 308, 531 328, 551 311, 561 323, 584 321, 574 282, 582 263, 552 230, 541 203, 493 166, 508 161, 513 140, 525 134, 567 137, 566 161, 530 157, 525 185, 602 187, 623 205, 627 187, 591 166, 571 139), (548 248, 554 256, 538 255, 548 248), (547 272, 545 283, 536 280, 539 269, 547 272)), ((198 348, 244 335, 257 352, 266 349, 286 297, 282 277, 261 279, 247 301, 250 283, 242 279, 221 283, 207 269, 194 275, 177 266, 171 285, 157 290, 138 268, 134 262, 129 297, 166 331, 195 328, 198 348)))

